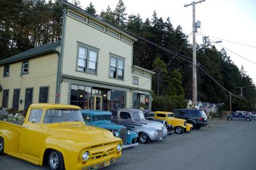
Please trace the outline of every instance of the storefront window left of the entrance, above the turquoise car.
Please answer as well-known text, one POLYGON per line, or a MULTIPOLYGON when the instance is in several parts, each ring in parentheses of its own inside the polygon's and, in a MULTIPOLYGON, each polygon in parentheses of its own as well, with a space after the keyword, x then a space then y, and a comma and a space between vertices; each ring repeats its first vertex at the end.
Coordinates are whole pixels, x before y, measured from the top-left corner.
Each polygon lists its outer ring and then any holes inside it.
POLYGON ((92 109, 91 87, 71 85, 70 104, 78 105, 82 109, 92 109))

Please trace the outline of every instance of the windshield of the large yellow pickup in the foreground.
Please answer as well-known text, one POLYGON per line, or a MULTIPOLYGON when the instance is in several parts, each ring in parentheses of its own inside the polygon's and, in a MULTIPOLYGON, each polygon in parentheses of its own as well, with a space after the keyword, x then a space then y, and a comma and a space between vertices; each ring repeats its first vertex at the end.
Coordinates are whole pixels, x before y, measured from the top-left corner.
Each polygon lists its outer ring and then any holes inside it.
POLYGON ((44 123, 82 121, 81 111, 75 109, 49 109, 45 112, 44 123))

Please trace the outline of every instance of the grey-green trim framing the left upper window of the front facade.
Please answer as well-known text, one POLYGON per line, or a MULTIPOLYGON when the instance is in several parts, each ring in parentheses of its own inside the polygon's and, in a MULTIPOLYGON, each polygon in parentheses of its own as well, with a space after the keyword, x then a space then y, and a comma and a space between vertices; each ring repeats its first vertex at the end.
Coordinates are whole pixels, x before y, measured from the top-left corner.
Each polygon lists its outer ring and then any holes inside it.
POLYGON ((77 42, 76 72, 89 73, 89 74, 92 74, 92 75, 98 75, 98 70, 99 70, 99 51, 100 51, 100 49, 98 49, 96 47, 92 47, 91 45, 87 45, 86 43, 77 42), (80 70, 77 69, 77 67, 78 67, 78 59, 79 59, 79 47, 80 46, 87 49, 86 71, 85 72, 80 71, 80 70), (96 73, 89 72, 90 50, 95 50, 97 52, 96 73))

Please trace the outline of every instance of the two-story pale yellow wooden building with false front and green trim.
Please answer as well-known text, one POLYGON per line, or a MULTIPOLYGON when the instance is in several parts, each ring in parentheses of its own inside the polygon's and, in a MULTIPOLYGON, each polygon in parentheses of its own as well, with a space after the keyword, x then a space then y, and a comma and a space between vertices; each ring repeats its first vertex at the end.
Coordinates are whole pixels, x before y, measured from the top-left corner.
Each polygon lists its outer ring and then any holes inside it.
POLYGON ((0 61, 0 107, 31 103, 116 111, 150 109, 154 72, 132 65, 136 38, 99 17, 63 3, 59 42, 0 61))

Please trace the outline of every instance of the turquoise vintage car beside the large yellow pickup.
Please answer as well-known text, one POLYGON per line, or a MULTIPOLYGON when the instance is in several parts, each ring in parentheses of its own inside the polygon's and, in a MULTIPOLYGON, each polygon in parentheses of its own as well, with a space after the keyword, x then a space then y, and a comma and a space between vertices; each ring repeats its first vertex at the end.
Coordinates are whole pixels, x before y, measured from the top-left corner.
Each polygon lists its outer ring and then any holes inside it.
POLYGON ((86 125, 106 128, 113 132, 113 135, 123 140, 123 148, 137 146, 138 134, 127 130, 122 125, 111 123, 112 113, 108 111, 81 110, 86 125))

